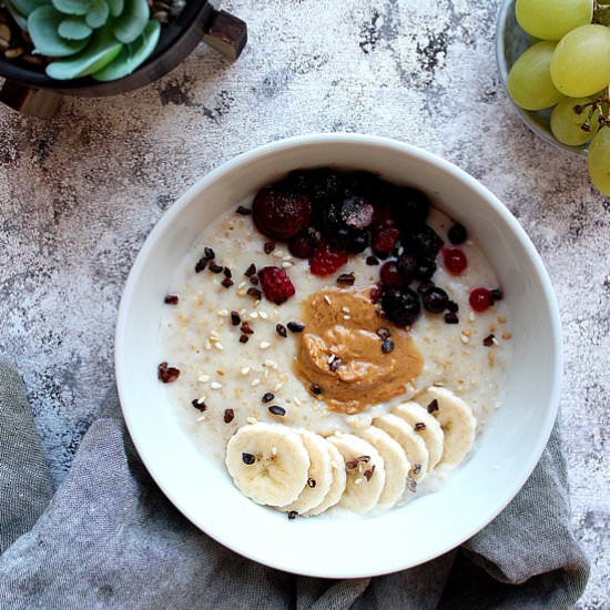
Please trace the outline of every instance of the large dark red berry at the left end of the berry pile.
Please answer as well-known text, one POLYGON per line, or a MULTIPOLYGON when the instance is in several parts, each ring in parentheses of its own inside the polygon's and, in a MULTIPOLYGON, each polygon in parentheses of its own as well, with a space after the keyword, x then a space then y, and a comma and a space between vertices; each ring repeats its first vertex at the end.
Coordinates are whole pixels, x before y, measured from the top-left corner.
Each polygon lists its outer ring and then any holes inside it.
POLYGON ((306 195, 262 189, 252 204, 254 224, 267 237, 288 241, 312 220, 312 202, 306 195))

